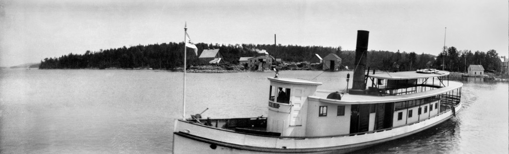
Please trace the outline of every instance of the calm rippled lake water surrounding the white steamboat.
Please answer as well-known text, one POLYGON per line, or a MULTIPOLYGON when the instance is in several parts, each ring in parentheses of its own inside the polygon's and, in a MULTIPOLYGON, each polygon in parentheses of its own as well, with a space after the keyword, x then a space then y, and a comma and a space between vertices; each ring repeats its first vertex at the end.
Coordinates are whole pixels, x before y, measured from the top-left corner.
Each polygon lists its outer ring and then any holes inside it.
MULTIPOLYGON (((348 72, 281 71, 345 88, 348 72)), ((353 74, 352 72, 350 72, 353 74)), ((0 153, 171 153, 182 72, 0 70, 0 153)), ((186 116, 267 115, 273 72, 187 73, 186 116)), ((464 83, 463 110, 438 126, 356 153, 508 153, 509 85, 464 83)), ((350 85, 352 81, 350 82, 350 85)))

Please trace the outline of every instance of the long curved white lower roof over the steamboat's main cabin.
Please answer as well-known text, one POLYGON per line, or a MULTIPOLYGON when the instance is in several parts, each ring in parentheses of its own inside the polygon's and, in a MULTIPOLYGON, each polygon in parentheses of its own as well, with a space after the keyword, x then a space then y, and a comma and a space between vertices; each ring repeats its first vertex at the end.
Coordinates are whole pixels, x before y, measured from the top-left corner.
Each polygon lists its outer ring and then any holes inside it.
POLYGON ((308 98, 312 99, 312 100, 313 99, 319 100, 321 102, 336 103, 336 104, 371 104, 371 103, 398 102, 398 101, 406 101, 406 100, 431 97, 431 96, 435 96, 438 94, 448 92, 450 90, 460 88, 462 86, 463 86, 463 84, 460 82, 450 81, 449 86, 447 86, 447 87, 428 90, 425 92, 411 93, 411 94, 405 94, 405 95, 395 95, 395 96, 345 94, 342 96, 341 100, 327 99, 327 96, 330 93, 333 93, 336 91, 343 92, 342 90, 329 89, 329 90, 317 90, 317 92, 315 93, 315 96, 309 96, 308 98))

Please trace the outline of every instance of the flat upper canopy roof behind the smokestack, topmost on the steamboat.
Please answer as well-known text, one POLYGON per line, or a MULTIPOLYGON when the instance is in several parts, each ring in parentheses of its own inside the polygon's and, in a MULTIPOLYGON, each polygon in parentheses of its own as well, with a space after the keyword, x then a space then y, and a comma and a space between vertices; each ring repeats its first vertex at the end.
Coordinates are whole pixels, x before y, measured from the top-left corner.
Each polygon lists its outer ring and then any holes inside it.
POLYGON ((405 79, 422 79, 433 78, 439 76, 449 75, 448 71, 438 70, 435 73, 418 73, 416 71, 400 71, 400 72, 377 72, 376 74, 369 74, 370 78, 388 79, 388 80, 405 80, 405 79))

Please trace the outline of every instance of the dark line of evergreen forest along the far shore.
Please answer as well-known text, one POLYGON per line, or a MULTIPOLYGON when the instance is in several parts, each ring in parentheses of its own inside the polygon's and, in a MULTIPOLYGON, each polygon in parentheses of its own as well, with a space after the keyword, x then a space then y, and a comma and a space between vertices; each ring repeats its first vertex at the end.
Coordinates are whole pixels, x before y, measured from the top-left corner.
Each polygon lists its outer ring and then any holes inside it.
MULTIPOLYGON (((238 64, 240 57, 252 57, 260 54, 257 51, 267 51, 282 61, 309 61, 315 54, 321 57, 334 53, 342 58, 342 65, 354 68, 355 51, 342 50, 338 47, 297 46, 297 45, 254 45, 254 44, 195 44, 198 55, 192 49, 187 49, 187 65, 199 65, 198 57, 204 49, 219 49, 226 64, 238 64)), ((420 68, 444 68, 450 71, 464 71, 470 64, 481 64, 485 69, 500 70, 498 54, 495 50, 488 52, 459 51, 455 47, 444 47, 438 56, 430 54, 416 54, 414 52, 369 51, 367 66, 379 70, 415 70, 420 68), (435 60, 436 59, 436 60, 435 60), (428 64, 428 65, 427 65, 428 64), (396 67, 399 66, 399 67, 396 67)), ((40 69, 105 69, 105 68, 153 68, 176 69, 184 63, 184 43, 162 43, 153 45, 138 45, 117 49, 86 51, 84 54, 63 55, 61 57, 45 58, 41 60, 40 69)), ((346 68, 346 67, 342 67, 346 68)))

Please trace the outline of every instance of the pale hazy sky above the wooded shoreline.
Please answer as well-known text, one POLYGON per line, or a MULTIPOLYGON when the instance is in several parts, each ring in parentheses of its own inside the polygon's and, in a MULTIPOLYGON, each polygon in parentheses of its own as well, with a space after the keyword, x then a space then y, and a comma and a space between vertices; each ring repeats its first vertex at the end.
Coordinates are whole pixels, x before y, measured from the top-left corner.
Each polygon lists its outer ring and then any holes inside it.
POLYGON ((0 66, 87 50, 182 42, 277 44, 438 55, 509 55, 509 2, 0 0, 0 66), (447 27, 447 28, 446 28, 447 27))

